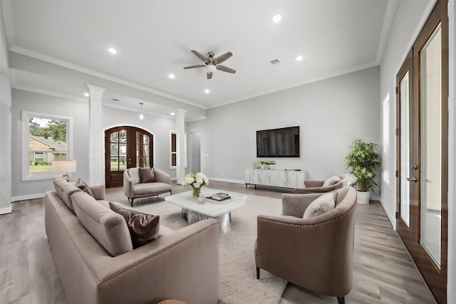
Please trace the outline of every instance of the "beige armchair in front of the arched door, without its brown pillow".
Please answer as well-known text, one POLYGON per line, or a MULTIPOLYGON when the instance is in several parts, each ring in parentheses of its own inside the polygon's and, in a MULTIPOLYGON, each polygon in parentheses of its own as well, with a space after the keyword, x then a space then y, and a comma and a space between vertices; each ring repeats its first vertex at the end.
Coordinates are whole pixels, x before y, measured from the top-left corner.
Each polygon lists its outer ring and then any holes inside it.
POLYGON ((139 168, 129 168, 123 172, 123 192, 128 197, 131 206, 137 197, 155 196, 171 192, 170 174, 154 168, 156 182, 141 182, 139 168))

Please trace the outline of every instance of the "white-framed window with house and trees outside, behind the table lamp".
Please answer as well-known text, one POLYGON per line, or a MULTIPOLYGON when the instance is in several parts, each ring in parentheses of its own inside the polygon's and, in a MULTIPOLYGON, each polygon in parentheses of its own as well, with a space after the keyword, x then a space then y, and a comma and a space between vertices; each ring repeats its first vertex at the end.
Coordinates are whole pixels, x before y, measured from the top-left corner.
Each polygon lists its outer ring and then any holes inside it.
POLYGON ((22 180, 51 179, 52 161, 71 159, 73 118, 22 112, 22 180))

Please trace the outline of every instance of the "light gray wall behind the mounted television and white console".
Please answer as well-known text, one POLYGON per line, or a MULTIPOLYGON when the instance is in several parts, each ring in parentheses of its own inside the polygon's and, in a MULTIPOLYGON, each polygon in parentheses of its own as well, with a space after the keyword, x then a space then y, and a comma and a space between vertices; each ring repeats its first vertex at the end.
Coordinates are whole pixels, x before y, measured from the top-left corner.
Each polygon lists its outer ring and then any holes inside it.
POLYGON ((213 179, 243 182, 257 160, 256 131, 300 126, 299 158, 274 158, 273 169, 304 169, 308 179, 347 172, 357 138, 380 143, 379 67, 207 110, 201 131, 201 170, 213 179))

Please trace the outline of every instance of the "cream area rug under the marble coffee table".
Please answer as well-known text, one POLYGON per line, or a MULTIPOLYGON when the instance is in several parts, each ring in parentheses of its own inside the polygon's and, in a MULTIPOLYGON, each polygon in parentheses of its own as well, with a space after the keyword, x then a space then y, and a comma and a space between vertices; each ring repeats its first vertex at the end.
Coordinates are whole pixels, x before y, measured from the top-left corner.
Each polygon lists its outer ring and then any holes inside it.
MULTIPOLYGON (((126 203, 117 204, 131 209, 126 203)), ((182 209, 166 201, 135 203, 133 209, 160 215, 160 224, 172 230, 187 226, 182 209)), ((280 213, 280 199, 255 195, 249 195, 244 206, 232 212, 231 231, 219 235, 220 304, 277 304, 281 300, 286 281, 267 271, 261 271, 257 280, 254 259, 257 216, 280 213)))

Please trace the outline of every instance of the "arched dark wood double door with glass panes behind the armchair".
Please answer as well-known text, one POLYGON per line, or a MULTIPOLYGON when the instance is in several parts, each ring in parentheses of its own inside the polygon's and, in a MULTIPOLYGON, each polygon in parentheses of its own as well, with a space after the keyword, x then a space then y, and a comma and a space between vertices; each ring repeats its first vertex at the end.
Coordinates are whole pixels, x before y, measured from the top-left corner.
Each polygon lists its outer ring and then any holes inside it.
POLYGON ((105 130, 106 188, 122 187, 127 168, 153 167, 153 135, 138 127, 105 130))

